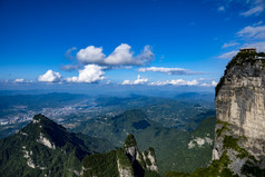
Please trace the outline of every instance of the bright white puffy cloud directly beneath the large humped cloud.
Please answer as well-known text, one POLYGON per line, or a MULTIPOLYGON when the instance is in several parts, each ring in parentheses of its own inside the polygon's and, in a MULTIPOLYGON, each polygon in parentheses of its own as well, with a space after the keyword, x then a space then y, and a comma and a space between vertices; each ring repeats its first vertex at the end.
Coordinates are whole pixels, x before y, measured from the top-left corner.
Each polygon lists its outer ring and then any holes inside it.
POLYGON ((78 77, 67 78, 68 82, 97 82, 99 80, 105 79, 105 72, 102 71, 104 67, 97 65, 87 65, 85 69, 79 70, 78 77))

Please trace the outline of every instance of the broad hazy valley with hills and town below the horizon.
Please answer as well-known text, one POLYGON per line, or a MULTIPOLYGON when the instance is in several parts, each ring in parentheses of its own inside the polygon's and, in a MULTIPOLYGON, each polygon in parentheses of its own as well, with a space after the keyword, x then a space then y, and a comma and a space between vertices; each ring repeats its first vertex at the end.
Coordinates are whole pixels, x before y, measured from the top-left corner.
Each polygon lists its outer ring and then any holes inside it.
POLYGON ((27 107, 23 114, 28 115, 27 119, 21 116, 17 121, 1 125, 0 132, 2 137, 19 132, 32 121, 30 114, 40 111, 69 131, 107 139, 116 148, 122 147, 126 137, 132 134, 139 150, 156 149, 161 176, 168 170, 193 171, 210 160, 215 125, 213 101, 196 100, 193 95, 187 98, 186 94, 176 99, 137 95, 125 98, 69 94, 4 96, 7 98, 2 100, 11 100, 9 108, 1 110, 6 119, 12 120, 13 108, 22 109, 21 105, 27 107), (51 97, 60 105, 50 104, 51 97), (63 97, 68 99, 63 100, 63 97), (24 100, 17 101, 21 98, 24 100))

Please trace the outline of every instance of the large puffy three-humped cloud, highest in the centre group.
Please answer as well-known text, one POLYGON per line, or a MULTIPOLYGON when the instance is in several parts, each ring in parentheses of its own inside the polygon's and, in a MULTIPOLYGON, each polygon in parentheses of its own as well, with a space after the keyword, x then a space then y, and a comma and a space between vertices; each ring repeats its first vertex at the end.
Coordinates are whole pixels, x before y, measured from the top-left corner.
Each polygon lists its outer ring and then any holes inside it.
POLYGON ((154 59, 154 53, 149 46, 134 56, 131 47, 127 43, 118 46, 108 57, 102 52, 102 48, 89 46, 77 52, 77 59, 82 65, 95 63, 100 66, 144 66, 154 59))

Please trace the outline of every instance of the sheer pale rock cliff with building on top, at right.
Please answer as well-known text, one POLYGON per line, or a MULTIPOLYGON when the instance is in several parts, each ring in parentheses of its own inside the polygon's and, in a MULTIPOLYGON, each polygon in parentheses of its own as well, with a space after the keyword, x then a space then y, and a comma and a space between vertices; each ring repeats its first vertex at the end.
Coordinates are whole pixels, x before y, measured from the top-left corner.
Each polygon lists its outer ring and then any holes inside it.
POLYGON ((265 60, 239 52, 216 87, 216 135, 213 160, 229 157, 239 176, 247 166, 265 168, 265 60))

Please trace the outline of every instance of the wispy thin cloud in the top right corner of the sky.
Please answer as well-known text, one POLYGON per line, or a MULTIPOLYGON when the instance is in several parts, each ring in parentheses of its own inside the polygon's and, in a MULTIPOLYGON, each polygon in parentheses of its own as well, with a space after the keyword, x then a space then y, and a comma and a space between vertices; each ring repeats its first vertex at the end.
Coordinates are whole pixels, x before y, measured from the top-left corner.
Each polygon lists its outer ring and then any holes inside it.
POLYGON ((242 12, 241 16, 243 17, 258 16, 264 11, 264 8, 265 8, 264 0, 251 0, 247 2, 251 3, 252 8, 245 12, 242 12))

